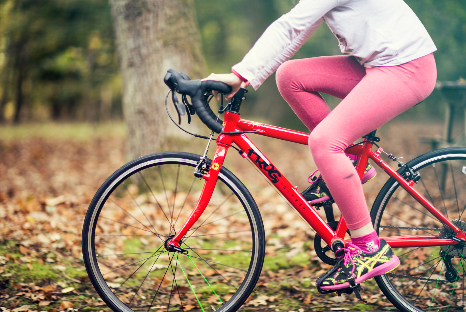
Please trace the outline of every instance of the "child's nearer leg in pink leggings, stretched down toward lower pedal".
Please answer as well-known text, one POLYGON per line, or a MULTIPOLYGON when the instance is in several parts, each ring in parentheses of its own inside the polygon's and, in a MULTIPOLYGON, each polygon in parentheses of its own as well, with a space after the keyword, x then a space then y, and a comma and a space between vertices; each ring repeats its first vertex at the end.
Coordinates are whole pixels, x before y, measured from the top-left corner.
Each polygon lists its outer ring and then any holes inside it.
POLYGON ((363 79, 309 136, 315 164, 350 231, 370 223, 370 216, 359 176, 344 149, 424 100, 435 82, 433 54, 400 66, 366 68, 363 79))

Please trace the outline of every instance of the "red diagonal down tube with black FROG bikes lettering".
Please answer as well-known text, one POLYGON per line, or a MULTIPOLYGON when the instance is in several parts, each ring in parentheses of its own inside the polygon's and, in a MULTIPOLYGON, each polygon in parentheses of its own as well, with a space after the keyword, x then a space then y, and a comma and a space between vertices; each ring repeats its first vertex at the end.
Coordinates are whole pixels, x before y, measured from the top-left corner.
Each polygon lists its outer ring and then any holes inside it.
MULTIPOLYGON (((251 161, 256 165, 260 171, 267 176, 277 190, 288 200, 289 203, 295 207, 295 210, 308 222, 308 224, 322 237, 327 243, 331 244, 332 240, 336 238, 335 232, 329 227, 329 225, 322 219, 321 216, 309 205, 301 194, 293 187, 293 185, 287 180, 285 176, 281 174, 274 164, 271 163, 264 154, 254 145, 249 138, 241 134, 234 136, 233 142, 240 147, 244 152, 243 157, 249 157, 251 161)), ((343 238, 343 237, 339 237, 343 238)))

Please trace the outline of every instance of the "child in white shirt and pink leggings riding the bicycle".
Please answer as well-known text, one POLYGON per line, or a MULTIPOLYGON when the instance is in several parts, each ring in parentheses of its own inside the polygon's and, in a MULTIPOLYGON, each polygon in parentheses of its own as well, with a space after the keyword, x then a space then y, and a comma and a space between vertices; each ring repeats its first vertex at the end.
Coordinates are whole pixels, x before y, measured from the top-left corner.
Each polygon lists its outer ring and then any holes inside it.
POLYGON ((434 51, 403 0, 301 0, 265 30, 232 73, 204 79, 231 86, 229 100, 240 86, 257 89, 277 71, 281 95, 311 131, 308 145, 321 173, 309 177, 304 197, 310 203, 333 199, 350 231, 351 243, 336 251, 343 265, 317 279, 324 290, 344 289, 399 265, 374 231, 364 198, 361 182, 375 170, 368 164, 361 181, 357 159, 344 150, 430 95, 437 76, 434 51), (324 21, 347 55, 289 61, 324 21), (319 92, 342 101, 330 112, 319 92))

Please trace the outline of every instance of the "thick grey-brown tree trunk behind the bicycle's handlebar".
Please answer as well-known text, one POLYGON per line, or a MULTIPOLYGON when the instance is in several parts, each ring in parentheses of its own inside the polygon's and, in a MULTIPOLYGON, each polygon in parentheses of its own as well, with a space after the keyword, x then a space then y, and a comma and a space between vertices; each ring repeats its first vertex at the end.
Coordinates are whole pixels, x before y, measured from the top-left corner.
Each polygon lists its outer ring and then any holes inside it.
POLYGON ((110 5, 123 81, 127 156, 133 159, 181 135, 164 107, 167 69, 199 79, 205 60, 192 0, 110 0, 110 5))

